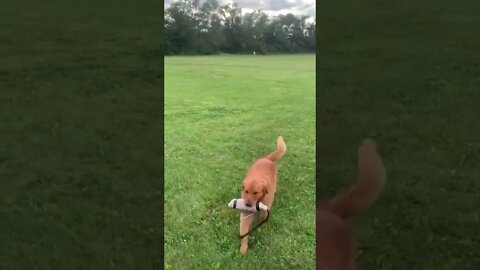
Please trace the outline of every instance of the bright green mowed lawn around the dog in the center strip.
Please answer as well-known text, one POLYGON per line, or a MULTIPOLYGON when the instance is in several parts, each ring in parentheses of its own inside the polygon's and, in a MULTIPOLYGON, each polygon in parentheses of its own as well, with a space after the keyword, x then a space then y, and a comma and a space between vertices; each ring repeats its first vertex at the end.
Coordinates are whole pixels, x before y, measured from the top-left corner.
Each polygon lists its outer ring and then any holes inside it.
POLYGON ((165 268, 315 269, 315 56, 165 58, 165 268), (239 249, 251 163, 276 148, 269 222, 239 249))

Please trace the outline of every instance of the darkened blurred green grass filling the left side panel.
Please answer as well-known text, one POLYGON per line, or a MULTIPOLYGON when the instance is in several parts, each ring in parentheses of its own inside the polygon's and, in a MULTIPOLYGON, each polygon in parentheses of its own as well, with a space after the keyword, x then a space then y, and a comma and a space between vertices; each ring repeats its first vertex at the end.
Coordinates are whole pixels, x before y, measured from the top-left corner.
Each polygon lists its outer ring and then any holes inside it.
POLYGON ((161 8, 0 3, 0 269, 161 269, 161 8))

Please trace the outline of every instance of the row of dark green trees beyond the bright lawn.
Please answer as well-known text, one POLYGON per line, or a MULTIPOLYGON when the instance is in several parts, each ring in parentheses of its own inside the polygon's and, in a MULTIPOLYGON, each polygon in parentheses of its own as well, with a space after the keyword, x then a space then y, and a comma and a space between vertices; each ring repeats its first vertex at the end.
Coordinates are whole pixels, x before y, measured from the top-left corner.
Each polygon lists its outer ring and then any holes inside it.
POLYGON ((242 14, 238 4, 178 0, 165 10, 165 54, 315 52, 315 23, 293 14, 242 14))

